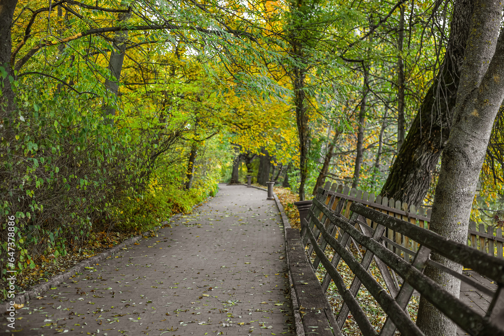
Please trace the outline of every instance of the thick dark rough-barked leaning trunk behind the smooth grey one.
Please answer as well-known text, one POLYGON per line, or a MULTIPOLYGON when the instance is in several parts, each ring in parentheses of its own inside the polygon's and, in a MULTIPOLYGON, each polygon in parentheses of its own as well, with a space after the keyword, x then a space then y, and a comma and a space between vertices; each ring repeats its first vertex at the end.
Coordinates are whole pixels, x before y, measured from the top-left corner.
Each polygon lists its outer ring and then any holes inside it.
POLYGON ((445 59, 390 169, 380 193, 383 196, 410 205, 422 204, 450 135, 473 6, 471 0, 454 5, 445 59))

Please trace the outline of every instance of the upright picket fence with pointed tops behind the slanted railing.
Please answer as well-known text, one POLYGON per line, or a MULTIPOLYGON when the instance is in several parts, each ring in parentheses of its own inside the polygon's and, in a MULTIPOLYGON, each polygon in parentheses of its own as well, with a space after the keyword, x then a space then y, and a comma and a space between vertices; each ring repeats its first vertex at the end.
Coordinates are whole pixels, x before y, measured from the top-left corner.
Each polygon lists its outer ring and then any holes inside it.
MULTIPOLYGON (((423 207, 416 208, 413 205, 409 206, 407 203, 401 203, 399 200, 394 200, 394 198, 389 199, 380 195, 375 196, 374 193, 369 194, 367 191, 349 188, 348 186, 343 186, 342 184, 337 185, 336 183, 333 183, 331 186, 330 182, 327 182, 324 189, 329 188, 331 191, 335 192, 337 198, 344 196, 348 199, 347 206, 343 209, 343 215, 345 215, 345 213, 348 214, 352 203, 357 201, 358 203, 366 205, 371 209, 408 221, 422 228, 429 229, 430 227, 430 209, 425 209, 423 207)), ((407 237, 405 238, 395 232, 389 232, 389 230, 386 232, 386 237, 388 238, 387 243, 389 244, 396 243, 406 248, 409 248, 410 244, 413 244, 407 237)), ((503 244, 504 238, 502 237, 501 228, 488 226, 485 230, 483 224, 479 224, 477 227, 475 222, 471 221, 469 223, 467 237, 468 246, 477 248, 478 250, 490 255, 504 258, 502 249, 503 244)), ((415 247, 416 250, 418 249, 418 244, 412 247, 415 247)))

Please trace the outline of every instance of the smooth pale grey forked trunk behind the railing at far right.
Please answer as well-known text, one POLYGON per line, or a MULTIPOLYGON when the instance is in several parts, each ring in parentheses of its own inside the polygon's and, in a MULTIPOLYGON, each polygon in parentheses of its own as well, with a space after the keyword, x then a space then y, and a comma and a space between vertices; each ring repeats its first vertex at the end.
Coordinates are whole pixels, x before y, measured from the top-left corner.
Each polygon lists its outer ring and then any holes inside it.
MULTIPOLYGON (((481 0, 474 7, 453 119, 443 152, 430 229, 451 240, 467 240, 469 217, 493 122, 504 98, 502 3, 481 0), (498 38, 498 42, 497 42, 498 38)), ((462 266, 435 253, 431 259, 460 273, 462 266)), ((460 280, 428 266, 425 274, 459 296, 460 280)), ((455 335, 457 326, 424 299, 417 325, 427 335, 455 335)))

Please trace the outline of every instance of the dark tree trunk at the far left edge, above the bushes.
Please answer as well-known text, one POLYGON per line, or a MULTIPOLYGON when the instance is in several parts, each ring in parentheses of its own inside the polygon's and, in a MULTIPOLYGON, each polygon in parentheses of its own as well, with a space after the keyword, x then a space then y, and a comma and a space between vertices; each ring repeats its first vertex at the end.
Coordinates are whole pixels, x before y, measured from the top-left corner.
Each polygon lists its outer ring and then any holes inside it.
POLYGON ((0 2, 0 66, 3 66, 7 71, 7 77, 3 80, 4 87, 2 88, 2 96, 0 96, 0 120, 4 120, 1 137, 4 137, 4 140, 7 141, 14 136, 11 126, 15 119, 13 115, 15 109, 15 96, 9 81, 9 76, 16 78, 14 75, 13 63, 11 62, 11 24, 17 4, 17 0, 2 0, 2 2, 0 2))

